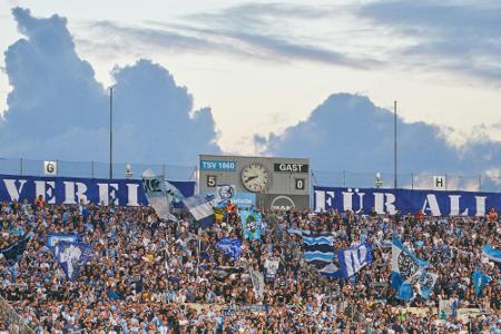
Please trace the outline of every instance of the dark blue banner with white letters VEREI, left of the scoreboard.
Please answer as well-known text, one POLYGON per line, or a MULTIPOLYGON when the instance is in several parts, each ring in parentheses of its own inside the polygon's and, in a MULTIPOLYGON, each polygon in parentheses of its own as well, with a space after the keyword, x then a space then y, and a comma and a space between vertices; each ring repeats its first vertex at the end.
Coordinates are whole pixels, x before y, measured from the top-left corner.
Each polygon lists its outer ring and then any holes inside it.
MULTIPOLYGON (((195 194, 195 181, 169 181, 185 197, 195 194)), ((77 204, 90 200, 95 204, 105 203, 138 206, 148 205, 141 180, 138 179, 97 179, 69 177, 31 177, 0 175, 0 202, 33 203, 42 196, 47 204, 77 204)), ((174 207, 183 204, 174 203, 174 207)))

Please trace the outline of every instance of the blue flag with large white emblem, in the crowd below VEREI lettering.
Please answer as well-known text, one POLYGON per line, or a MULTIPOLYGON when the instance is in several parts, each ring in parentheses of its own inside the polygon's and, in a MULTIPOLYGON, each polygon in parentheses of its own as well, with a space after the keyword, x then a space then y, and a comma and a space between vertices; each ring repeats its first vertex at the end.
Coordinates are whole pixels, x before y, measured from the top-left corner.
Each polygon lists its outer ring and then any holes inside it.
POLYGON ((87 264, 92 247, 84 243, 59 242, 56 245, 57 259, 69 281, 75 281, 80 274, 80 268, 87 264))

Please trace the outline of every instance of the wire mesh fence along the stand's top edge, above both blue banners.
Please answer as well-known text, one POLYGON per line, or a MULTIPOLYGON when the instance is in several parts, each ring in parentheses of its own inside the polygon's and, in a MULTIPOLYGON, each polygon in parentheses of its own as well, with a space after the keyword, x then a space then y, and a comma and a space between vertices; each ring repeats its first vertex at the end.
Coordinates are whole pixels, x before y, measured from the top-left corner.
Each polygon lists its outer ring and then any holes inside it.
MULTIPOLYGON (((57 160, 61 177, 109 178, 109 164, 99 161, 57 160)), ((177 166, 175 164, 137 164, 114 163, 114 178, 125 178, 126 167, 130 166, 132 178, 139 179, 145 169, 151 168, 155 174, 165 175, 171 180, 196 180, 197 166, 177 166)), ((21 176, 45 176, 43 160, 0 158, 0 174, 21 176)), ((312 169, 312 184, 332 187, 375 187, 376 173, 358 173, 350 170, 312 169)), ((501 176, 459 175, 449 173, 402 173, 397 174, 399 187, 406 189, 433 189, 433 176, 445 178, 445 190, 501 191, 501 176)), ((380 173, 382 188, 392 188, 394 175, 380 173)))

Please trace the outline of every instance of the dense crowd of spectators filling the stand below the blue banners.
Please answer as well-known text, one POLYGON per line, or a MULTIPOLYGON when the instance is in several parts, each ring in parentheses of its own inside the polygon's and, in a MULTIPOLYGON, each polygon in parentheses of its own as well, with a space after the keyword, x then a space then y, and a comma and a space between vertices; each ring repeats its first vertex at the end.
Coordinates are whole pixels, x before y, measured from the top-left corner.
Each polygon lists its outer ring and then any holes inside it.
POLYGON ((501 246, 493 213, 263 213, 254 240, 243 238, 236 207, 203 230, 188 214, 177 218, 159 219, 141 206, 3 203, 0 249, 17 242, 23 249, 16 258, 0 255, 0 295, 40 333, 501 333, 500 268, 481 255, 485 243, 501 246), (439 275, 428 301, 416 294, 403 302, 391 288, 393 229, 439 275), (337 249, 367 240, 374 262, 356 279, 323 277, 303 261, 301 235, 287 230, 330 233, 337 249), (50 233, 79 234, 92 246, 77 279, 66 277, 48 247, 50 233), (242 242, 236 259, 216 246, 224 237, 242 242), (279 266, 261 296, 249 268, 266 273, 271 259, 279 266), (474 268, 492 277, 480 297, 474 268), (441 299, 482 314, 441 318, 432 311, 441 299))

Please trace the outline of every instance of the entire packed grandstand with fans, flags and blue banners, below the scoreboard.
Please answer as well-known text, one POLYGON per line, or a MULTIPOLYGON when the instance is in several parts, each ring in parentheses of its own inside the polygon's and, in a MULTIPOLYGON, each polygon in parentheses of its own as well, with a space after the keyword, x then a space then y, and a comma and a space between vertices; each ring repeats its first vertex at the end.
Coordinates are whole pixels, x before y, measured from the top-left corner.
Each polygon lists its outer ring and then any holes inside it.
POLYGON ((501 333, 499 194, 313 184, 310 209, 240 209, 147 167, 2 170, 0 331, 501 333))

